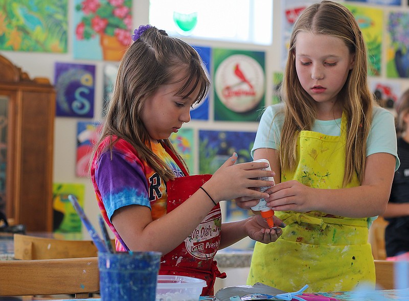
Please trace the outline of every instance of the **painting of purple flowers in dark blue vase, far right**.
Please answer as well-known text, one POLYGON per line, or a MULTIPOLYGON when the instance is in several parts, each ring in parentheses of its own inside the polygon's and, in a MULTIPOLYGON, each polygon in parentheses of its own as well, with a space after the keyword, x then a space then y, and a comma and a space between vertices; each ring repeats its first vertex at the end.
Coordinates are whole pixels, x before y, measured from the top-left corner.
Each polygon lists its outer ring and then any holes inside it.
POLYGON ((409 13, 390 12, 388 17, 387 77, 409 77, 409 13))

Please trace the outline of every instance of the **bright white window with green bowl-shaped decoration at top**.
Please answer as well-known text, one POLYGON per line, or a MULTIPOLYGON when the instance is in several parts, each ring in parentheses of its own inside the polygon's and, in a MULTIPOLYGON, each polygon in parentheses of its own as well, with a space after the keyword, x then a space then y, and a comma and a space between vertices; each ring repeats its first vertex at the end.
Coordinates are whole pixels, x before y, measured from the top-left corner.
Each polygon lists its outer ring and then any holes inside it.
POLYGON ((173 36, 269 45, 272 0, 150 0, 149 23, 173 36))

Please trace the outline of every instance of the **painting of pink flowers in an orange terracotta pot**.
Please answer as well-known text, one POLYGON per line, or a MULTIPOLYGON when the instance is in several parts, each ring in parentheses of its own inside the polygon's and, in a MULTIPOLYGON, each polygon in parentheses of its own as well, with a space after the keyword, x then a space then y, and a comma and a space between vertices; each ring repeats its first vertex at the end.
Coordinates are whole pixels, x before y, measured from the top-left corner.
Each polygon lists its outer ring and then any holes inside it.
POLYGON ((74 58, 121 60, 132 26, 132 0, 75 0, 74 58))

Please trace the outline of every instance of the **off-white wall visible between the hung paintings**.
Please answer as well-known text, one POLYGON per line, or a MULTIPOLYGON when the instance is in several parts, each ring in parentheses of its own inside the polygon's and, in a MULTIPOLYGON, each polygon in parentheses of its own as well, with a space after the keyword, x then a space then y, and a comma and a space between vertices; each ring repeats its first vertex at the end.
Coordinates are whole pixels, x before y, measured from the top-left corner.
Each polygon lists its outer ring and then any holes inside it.
MULTIPOLYGON (((273 1, 273 0, 272 0, 273 1)), ((402 5, 401 10, 407 11, 407 0, 404 7, 402 5)), ((74 1, 69 0, 69 16, 73 12, 74 1)), ((385 7, 383 7, 385 8, 385 7)), ((273 31, 273 44, 266 47, 260 45, 238 44, 238 43, 226 43, 220 41, 203 41, 186 39, 189 43, 195 45, 204 45, 209 47, 222 47, 227 49, 248 49, 265 51, 266 53, 266 104, 269 104, 272 97, 272 74, 274 72, 281 71, 281 1, 274 0, 274 31, 273 31)), ((387 8, 395 9, 395 7, 387 8)), ((134 0, 133 1, 133 21, 134 27, 138 27, 141 24, 148 23, 148 0, 134 0)), ((72 19, 72 18, 70 18, 72 19)), ((74 60, 72 54, 71 38, 74 34, 74 26, 70 20, 69 24, 69 46, 66 54, 50 54, 50 53, 26 53, 26 52, 9 52, 0 51, 2 55, 11 60, 15 65, 22 68, 27 72, 30 78, 33 77, 47 77, 52 83, 54 83, 54 64, 55 62, 73 62, 73 63, 86 63, 96 65, 96 85, 95 85, 95 119, 100 118, 100 111, 103 98, 103 66, 104 61, 92 61, 92 60, 74 60)), ((385 66, 382 65, 384 72, 385 66)), ((402 90, 409 86, 407 79, 398 79, 402 83, 402 90)), ((211 102, 212 106, 212 102, 211 102)), ((212 107, 211 110, 212 111, 212 107)), ((211 117, 213 114, 211 113, 211 117)), ((85 185, 85 213, 89 216, 89 219, 94 225, 98 225, 97 216, 99 209, 95 201, 94 190, 88 178, 79 178, 75 176, 75 163, 76 163, 76 126, 78 121, 83 119, 76 118, 62 118, 56 117, 55 120, 55 140, 54 140, 54 182, 67 182, 67 183, 83 183, 85 185)), ((234 123, 234 122, 200 122, 191 121, 187 127, 194 129, 215 129, 215 130, 238 130, 238 131, 256 131, 257 123, 234 123)), ((197 138, 197 137, 196 137, 197 138)), ((197 166, 197 162, 196 162, 197 166)), ((84 230, 85 233, 85 230, 84 230)), ((86 235, 86 234, 85 234, 86 235)))

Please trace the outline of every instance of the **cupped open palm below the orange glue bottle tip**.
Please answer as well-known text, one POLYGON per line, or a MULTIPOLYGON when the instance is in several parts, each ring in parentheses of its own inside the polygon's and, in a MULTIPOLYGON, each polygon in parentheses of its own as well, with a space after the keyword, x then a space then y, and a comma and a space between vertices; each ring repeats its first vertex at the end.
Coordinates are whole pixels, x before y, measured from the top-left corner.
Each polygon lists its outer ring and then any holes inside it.
MULTIPOLYGON (((275 225, 285 227, 281 219, 276 216, 274 216, 273 219, 275 225)), ((260 215, 255 215, 251 219, 248 219, 244 224, 244 228, 249 238, 265 244, 275 242, 283 234, 281 228, 270 229, 267 222, 260 215)))

